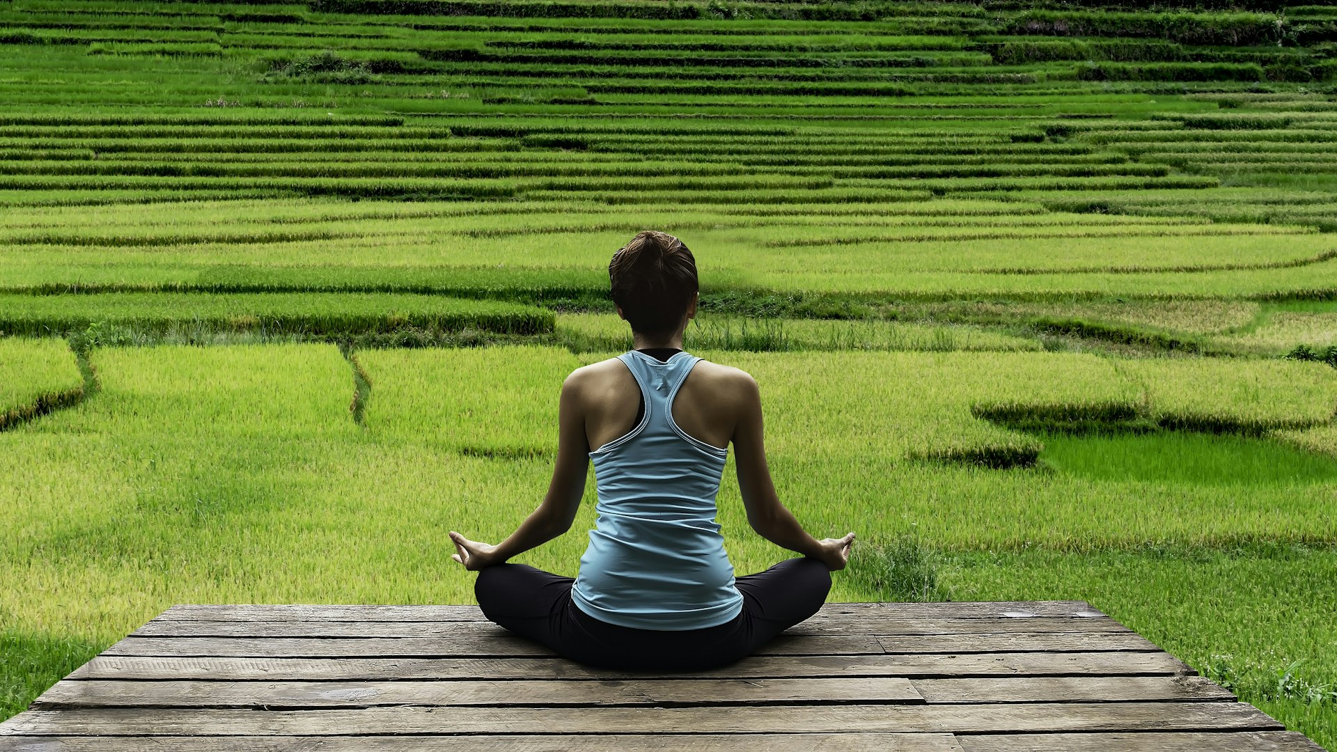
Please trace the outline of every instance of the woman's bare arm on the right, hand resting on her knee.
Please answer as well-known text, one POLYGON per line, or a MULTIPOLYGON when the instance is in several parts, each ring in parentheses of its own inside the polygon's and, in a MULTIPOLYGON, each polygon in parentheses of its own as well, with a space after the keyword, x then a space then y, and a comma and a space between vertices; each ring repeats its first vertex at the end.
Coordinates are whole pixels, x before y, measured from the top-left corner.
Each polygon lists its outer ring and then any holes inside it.
POLYGON ((845 569, 854 534, 818 541, 804 530, 785 504, 779 503, 762 440, 761 389, 757 387, 757 380, 746 373, 739 377, 739 384, 741 407, 733 442, 738 490, 747 510, 747 523, 758 535, 777 546, 818 559, 826 569, 845 569))

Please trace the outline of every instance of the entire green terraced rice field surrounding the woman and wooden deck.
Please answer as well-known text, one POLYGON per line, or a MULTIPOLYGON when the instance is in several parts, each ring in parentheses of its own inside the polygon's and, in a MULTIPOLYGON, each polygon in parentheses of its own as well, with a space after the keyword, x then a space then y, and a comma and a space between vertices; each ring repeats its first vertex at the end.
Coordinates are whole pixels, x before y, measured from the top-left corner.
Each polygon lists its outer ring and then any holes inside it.
MULTIPOLYGON (((834 598, 1086 599, 1337 747, 1334 43, 1273 0, 0 3, 3 715, 175 602, 468 602, 444 531, 533 507, 662 229, 782 499, 860 534, 834 598)), ((574 573, 580 514, 523 561, 574 573)), ((731 470, 719 521, 783 555, 731 470)))

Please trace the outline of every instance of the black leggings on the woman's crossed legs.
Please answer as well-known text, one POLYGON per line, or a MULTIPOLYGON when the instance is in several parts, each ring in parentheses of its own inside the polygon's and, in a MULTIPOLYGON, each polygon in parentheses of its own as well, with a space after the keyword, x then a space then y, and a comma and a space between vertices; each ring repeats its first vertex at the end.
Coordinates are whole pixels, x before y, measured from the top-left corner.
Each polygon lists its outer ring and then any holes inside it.
POLYGON ((691 630, 632 629, 596 620, 571 601, 575 579, 528 565, 479 570, 473 593, 489 621, 582 664, 616 670, 705 670, 754 653, 817 613, 830 591, 826 565, 785 559, 735 578, 743 610, 733 621, 691 630))

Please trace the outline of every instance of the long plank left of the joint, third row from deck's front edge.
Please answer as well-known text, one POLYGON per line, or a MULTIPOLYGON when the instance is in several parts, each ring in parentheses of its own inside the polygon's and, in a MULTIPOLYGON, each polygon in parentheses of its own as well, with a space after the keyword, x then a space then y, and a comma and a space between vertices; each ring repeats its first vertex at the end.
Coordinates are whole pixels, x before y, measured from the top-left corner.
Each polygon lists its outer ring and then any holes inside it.
POLYGON ((386 705, 747 705, 917 702, 898 677, 631 681, 60 681, 33 709, 372 708, 386 705))

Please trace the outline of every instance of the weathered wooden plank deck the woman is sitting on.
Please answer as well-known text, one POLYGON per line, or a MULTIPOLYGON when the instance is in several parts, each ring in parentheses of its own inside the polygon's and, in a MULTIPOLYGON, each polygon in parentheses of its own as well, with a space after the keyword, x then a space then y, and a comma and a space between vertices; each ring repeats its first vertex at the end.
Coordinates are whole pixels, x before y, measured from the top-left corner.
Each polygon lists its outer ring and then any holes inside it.
POLYGON ((0 749, 1320 749, 1234 700, 1079 601, 829 603, 759 656, 663 676, 582 668, 473 606, 174 606, 0 749))

